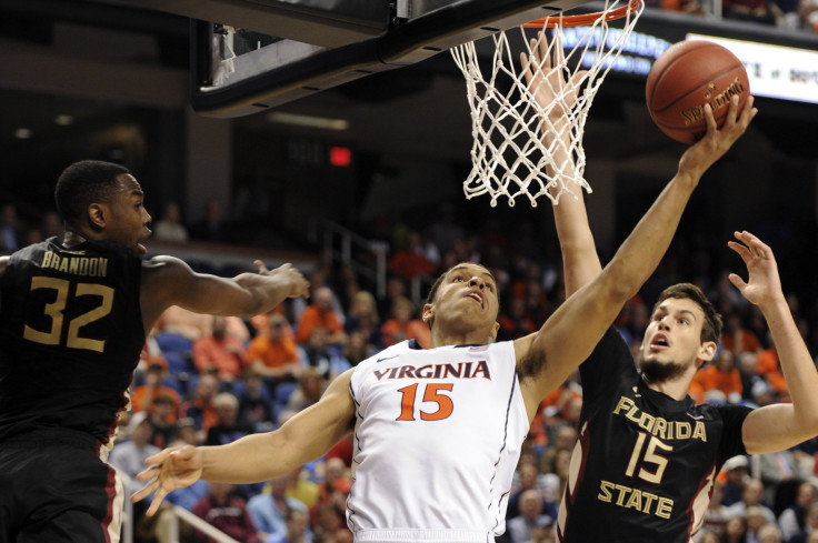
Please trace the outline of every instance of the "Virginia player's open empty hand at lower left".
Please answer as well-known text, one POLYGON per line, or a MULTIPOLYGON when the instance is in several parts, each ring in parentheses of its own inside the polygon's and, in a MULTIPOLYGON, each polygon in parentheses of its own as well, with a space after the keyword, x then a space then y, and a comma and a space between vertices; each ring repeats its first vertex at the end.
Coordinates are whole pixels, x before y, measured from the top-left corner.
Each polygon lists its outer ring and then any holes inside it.
POLYGON ((137 480, 148 483, 131 495, 131 501, 138 502, 156 491, 148 516, 157 512, 164 496, 177 489, 190 486, 201 477, 202 454, 192 445, 166 449, 148 456, 144 463, 148 467, 137 475, 137 480))

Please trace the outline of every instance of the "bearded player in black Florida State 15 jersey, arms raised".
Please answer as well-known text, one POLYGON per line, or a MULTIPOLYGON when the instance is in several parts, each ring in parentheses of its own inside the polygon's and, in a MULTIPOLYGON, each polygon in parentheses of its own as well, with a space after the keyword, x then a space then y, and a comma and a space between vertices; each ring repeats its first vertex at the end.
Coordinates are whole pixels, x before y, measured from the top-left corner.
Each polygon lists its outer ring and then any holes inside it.
MULTIPOLYGON (((737 109, 734 97, 730 117, 737 109)), ((741 117, 755 114, 751 110, 750 97, 741 117)), ((697 144, 685 153, 677 178, 700 151, 697 144)), ((566 295, 580 294, 601 270, 581 194, 561 199, 553 210, 566 295)), ((716 354, 721 316, 697 286, 669 286, 645 333, 641 372, 614 328, 579 366, 585 400, 557 522, 559 541, 687 543, 701 526, 727 459, 781 451, 818 434, 818 372, 789 312, 772 251, 748 232, 735 235, 728 245, 744 260, 749 279, 730 274, 730 282, 765 314, 792 403, 755 411, 695 405, 687 390, 716 354)))

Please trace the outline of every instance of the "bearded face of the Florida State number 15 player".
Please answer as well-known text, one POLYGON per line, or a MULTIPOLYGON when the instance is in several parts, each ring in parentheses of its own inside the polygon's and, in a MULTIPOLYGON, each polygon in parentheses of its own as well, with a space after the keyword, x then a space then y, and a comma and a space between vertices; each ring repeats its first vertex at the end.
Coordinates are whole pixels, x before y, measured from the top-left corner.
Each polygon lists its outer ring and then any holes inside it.
POLYGON ((661 302, 645 332, 641 354, 645 362, 697 364, 710 360, 714 342, 701 341, 705 312, 692 300, 669 298, 661 302))

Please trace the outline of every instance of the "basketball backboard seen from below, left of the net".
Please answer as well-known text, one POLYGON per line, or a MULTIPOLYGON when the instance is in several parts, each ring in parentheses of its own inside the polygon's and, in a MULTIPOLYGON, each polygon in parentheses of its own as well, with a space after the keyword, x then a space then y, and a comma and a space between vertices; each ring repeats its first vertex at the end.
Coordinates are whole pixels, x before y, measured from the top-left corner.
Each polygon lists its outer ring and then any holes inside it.
POLYGON ((140 0, 191 17, 191 104, 231 118, 427 59, 587 0, 140 0))

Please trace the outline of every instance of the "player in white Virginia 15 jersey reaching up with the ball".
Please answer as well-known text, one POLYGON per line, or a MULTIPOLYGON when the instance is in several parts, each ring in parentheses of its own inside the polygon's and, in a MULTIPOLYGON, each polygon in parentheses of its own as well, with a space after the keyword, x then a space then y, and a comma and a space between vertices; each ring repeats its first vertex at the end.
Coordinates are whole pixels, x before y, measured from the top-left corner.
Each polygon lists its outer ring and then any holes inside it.
MULTIPOLYGON (((567 84, 563 82, 563 84, 567 84)), ((541 399, 588 358, 667 250, 701 173, 741 135, 732 109, 684 155, 679 173, 597 278, 526 338, 493 342, 499 300, 486 268, 465 262, 432 285, 431 348, 402 342, 336 379, 279 430, 147 460, 148 513, 198 479, 249 483, 295 470, 355 432, 347 520, 358 542, 487 542, 505 530, 511 479, 541 399)))

